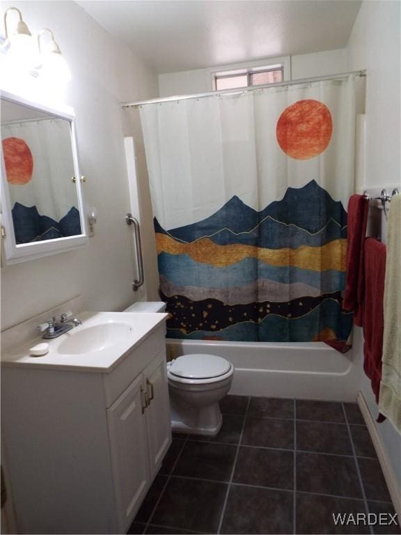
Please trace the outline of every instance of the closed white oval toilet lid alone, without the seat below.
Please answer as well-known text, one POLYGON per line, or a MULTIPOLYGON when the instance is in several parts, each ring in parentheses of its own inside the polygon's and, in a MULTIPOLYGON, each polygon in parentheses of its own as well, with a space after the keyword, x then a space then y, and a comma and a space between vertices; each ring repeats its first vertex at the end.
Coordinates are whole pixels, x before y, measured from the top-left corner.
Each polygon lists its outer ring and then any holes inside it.
POLYGON ((184 355, 175 359, 170 366, 170 373, 177 377, 188 379, 207 379, 219 377, 230 371, 231 364, 228 360, 216 355, 184 355))

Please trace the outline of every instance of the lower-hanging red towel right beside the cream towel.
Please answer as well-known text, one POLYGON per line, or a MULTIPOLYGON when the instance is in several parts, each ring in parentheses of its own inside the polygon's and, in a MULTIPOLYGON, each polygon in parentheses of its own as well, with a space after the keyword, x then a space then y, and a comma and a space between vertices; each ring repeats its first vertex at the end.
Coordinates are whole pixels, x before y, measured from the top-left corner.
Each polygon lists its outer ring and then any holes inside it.
POLYGON ((382 378, 382 349, 384 329, 384 276, 386 274, 386 246, 365 239, 365 298, 363 302, 363 369, 370 378, 372 390, 379 401, 382 378))

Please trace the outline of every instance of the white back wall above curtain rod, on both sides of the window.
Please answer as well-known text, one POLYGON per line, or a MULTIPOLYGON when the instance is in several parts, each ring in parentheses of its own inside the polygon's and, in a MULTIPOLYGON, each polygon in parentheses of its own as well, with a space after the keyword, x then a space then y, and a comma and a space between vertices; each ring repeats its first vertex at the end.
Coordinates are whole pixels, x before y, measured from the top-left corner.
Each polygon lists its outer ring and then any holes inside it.
MULTIPOLYGON (((278 63, 281 58, 268 58, 268 63, 278 63)), ((253 66, 250 62, 249 66, 253 66)), ((262 65, 263 61, 258 61, 262 65)), ((187 95, 190 93, 205 93, 212 91, 212 68, 186 70, 182 72, 168 72, 159 75, 159 95, 169 97, 172 95, 187 95)), ((230 68, 223 65, 221 70, 230 68)), ((347 70, 347 54, 345 49, 315 52, 314 54, 299 54, 291 56, 290 76, 286 79, 307 78, 314 76, 333 75, 347 70)))

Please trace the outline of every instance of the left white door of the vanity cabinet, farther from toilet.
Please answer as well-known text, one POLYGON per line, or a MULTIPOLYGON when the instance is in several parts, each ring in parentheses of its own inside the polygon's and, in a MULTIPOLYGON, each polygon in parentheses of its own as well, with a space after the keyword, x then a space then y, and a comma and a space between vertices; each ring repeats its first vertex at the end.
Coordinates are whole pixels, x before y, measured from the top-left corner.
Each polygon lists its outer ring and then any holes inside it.
POLYGON ((107 410, 118 533, 125 533, 150 486, 143 375, 107 410))

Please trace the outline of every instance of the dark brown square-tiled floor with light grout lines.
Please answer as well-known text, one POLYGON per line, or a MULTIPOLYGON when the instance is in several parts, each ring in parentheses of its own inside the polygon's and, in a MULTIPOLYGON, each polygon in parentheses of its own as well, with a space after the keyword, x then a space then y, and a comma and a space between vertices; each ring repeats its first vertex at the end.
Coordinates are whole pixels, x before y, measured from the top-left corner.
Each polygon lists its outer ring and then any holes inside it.
POLYGON ((129 534, 401 533, 333 523, 395 513, 358 405, 226 396, 221 412, 217 437, 173 434, 129 534))

